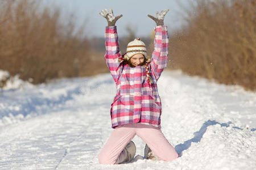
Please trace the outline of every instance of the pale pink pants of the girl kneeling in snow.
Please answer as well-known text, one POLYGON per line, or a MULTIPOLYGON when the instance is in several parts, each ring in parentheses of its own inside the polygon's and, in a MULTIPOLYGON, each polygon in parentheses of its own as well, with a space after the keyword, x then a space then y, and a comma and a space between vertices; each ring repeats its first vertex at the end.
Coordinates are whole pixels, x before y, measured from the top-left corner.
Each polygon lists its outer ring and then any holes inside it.
POLYGON ((172 161, 178 157, 174 147, 164 137, 162 131, 154 126, 141 123, 117 126, 105 146, 98 154, 100 164, 115 164, 127 143, 138 135, 151 148, 159 160, 172 161))

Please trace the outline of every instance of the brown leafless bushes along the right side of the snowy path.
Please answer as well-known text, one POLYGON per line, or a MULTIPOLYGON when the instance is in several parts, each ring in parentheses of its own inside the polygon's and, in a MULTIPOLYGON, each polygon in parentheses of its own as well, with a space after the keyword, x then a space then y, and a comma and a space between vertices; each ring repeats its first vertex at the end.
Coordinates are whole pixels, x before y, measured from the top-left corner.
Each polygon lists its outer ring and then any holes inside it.
POLYGON ((255 1, 197 0, 170 36, 171 69, 256 90, 255 1))

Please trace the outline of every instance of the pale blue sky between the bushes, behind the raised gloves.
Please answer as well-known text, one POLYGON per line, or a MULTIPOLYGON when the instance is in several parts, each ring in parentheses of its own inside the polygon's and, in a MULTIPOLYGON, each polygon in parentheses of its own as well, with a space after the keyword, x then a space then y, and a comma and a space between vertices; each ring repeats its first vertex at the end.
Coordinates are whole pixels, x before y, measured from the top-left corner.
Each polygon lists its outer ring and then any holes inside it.
POLYGON ((184 23, 185 12, 179 5, 188 6, 188 0, 147 0, 147 1, 85 1, 85 0, 43 0, 44 5, 60 7, 64 14, 73 14, 76 18, 77 28, 86 20, 86 35, 104 36, 106 19, 99 15, 102 9, 112 8, 114 15, 123 14, 115 25, 117 25, 118 35, 127 35, 126 28, 131 27, 136 32, 136 36, 150 35, 155 27, 155 22, 148 18, 147 14, 155 16, 156 11, 170 9, 167 13, 164 24, 168 26, 168 31, 172 32, 184 23))

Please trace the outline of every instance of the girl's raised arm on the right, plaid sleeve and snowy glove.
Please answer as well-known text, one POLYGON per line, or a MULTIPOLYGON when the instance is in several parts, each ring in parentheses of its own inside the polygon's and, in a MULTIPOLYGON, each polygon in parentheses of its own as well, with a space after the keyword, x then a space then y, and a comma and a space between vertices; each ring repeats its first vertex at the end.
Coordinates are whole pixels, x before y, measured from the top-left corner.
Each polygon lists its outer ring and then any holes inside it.
POLYGON ((169 10, 163 10, 160 13, 156 12, 156 17, 148 15, 152 20, 155 21, 155 40, 154 40, 154 51, 150 66, 153 74, 155 74, 156 80, 159 79, 164 68, 167 67, 168 61, 168 31, 167 26, 164 26, 164 16, 169 10))

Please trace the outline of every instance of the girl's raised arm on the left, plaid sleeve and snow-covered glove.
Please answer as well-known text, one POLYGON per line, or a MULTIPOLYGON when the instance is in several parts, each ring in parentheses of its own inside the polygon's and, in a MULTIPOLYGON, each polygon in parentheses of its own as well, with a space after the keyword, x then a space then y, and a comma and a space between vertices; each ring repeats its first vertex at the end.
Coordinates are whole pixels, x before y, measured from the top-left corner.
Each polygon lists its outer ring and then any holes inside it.
POLYGON ((115 26, 115 22, 122 15, 114 16, 113 10, 102 10, 100 15, 106 18, 108 21, 108 27, 105 29, 105 46, 106 46, 106 54, 105 61, 109 67, 110 73, 112 74, 115 83, 117 83, 117 79, 119 76, 120 66, 121 64, 118 62, 118 58, 122 57, 122 54, 119 50, 118 44, 118 35, 117 35, 117 27, 115 26))

